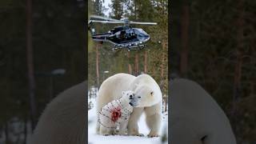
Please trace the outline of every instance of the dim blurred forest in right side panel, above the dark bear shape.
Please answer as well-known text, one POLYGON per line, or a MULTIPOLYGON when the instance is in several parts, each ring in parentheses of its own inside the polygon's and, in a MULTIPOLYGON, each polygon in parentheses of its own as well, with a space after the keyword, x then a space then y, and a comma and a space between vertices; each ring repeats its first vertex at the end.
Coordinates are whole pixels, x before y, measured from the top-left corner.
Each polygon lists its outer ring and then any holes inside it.
POLYGON ((238 143, 256 142, 256 2, 184 0, 171 8, 170 72, 214 97, 238 143))

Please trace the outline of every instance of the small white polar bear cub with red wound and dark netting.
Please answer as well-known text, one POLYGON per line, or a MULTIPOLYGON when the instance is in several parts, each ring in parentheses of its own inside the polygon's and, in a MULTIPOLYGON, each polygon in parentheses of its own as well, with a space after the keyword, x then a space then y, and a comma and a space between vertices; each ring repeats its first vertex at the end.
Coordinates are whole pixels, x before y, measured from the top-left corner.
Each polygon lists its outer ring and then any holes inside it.
POLYGON ((122 91, 122 97, 106 104, 98 114, 100 125, 99 134, 114 134, 118 129, 118 134, 125 135, 130 114, 133 106, 137 102, 134 91, 122 91))

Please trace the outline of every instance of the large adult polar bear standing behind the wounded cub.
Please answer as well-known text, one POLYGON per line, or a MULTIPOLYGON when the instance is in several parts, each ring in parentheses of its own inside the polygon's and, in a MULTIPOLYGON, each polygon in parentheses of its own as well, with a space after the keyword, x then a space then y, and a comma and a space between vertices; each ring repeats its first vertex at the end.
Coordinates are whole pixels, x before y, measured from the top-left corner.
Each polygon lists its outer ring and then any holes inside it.
MULTIPOLYGON (((142 136, 138 132, 138 119, 143 112, 146 114, 146 124, 150 128, 149 137, 158 137, 162 122, 162 92, 158 83, 148 74, 135 77, 131 74, 114 74, 107 78, 96 99, 97 114, 108 102, 120 98, 122 91, 133 90, 135 97, 141 97, 134 103, 134 110, 128 122, 128 134, 142 136)), ((97 123, 96 133, 99 134, 100 125, 97 123)))

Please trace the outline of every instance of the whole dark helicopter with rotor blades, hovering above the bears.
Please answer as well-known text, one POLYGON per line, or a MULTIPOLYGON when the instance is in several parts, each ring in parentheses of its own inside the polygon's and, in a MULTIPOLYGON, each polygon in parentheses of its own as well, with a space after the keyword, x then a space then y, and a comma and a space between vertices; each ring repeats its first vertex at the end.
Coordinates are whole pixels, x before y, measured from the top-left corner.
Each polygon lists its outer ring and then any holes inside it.
POLYGON ((128 51, 131 51, 144 49, 146 47, 145 42, 150 40, 150 35, 141 28, 133 28, 130 24, 157 25, 156 22, 133 22, 128 19, 117 20, 98 15, 91 15, 90 21, 88 22, 92 34, 91 38, 96 42, 110 42, 114 44, 112 50, 127 49, 128 51), (91 24, 94 22, 123 24, 123 26, 115 26, 106 33, 95 34, 95 29, 91 28, 91 24))

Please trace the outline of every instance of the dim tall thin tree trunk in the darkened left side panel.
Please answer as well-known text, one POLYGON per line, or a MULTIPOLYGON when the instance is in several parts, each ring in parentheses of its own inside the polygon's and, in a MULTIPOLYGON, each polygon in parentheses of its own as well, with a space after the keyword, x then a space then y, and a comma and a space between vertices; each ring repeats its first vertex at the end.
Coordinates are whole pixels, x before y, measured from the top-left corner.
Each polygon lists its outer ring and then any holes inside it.
POLYGON ((34 98, 34 62, 33 62, 33 46, 32 46, 32 0, 26 0, 26 57, 30 95, 30 114, 31 127, 34 130, 36 125, 36 104, 34 98))

